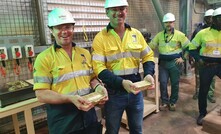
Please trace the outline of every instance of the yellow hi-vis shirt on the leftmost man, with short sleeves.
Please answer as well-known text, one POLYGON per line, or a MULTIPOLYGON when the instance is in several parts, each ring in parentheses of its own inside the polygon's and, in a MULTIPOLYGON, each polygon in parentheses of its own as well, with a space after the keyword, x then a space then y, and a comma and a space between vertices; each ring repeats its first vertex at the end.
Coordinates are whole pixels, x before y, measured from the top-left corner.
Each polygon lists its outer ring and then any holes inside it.
POLYGON ((41 52, 34 63, 34 90, 84 95, 90 92, 92 77, 91 55, 77 46, 72 47, 72 59, 63 48, 53 45, 41 52))

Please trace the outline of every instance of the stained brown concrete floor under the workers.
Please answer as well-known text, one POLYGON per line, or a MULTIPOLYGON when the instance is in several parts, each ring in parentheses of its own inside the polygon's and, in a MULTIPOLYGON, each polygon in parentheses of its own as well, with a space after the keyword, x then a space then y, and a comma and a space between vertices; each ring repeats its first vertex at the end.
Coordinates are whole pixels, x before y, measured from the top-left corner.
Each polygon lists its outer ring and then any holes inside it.
MULTIPOLYGON (((215 89, 216 103, 208 102, 208 112, 218 104, 221 104, 220 89, 221 80, 217 77, 215 89)), ((198 102, 192 99, 194 92, 194 76, 182 76, 176 111, 160 111, 145 117, 143 122, 143 134, 208 134, 203 131, 202 126, 196 124, 196 118, 198 117, 198 102)), ((47 133, 47 127, 36 130, 36 134, 47 133)), ((124 124, 122 124, 120 128, 120 134, 128 134, 124 124)))

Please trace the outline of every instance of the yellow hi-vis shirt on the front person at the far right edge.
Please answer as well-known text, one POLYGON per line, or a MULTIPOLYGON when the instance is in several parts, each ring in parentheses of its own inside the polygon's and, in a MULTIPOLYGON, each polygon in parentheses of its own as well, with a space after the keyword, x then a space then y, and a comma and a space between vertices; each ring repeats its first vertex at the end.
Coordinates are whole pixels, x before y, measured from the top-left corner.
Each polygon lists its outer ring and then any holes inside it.
POLYGON ((191 41, 189 50, 200 49, 200 56, 221 58, 221 31, 206 28, 198 32, 191 41))

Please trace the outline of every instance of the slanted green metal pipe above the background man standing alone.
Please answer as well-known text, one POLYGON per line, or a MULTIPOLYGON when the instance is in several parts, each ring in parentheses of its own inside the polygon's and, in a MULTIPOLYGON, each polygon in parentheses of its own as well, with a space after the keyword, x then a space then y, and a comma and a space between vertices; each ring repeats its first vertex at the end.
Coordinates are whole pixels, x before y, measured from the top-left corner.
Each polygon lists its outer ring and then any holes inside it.
POLYGON ((163 24, 162 20, 163 20, 164 12, 163 12, 162 6, 160 4, 160 1, 159 0, 152 0, 152 3, 153 3, 154 8, 155 8, 155 10, 157 12, 157 16, 158 16, 158 18, 160 20, 161 27, 163 28, 164 24, 163 24))

